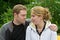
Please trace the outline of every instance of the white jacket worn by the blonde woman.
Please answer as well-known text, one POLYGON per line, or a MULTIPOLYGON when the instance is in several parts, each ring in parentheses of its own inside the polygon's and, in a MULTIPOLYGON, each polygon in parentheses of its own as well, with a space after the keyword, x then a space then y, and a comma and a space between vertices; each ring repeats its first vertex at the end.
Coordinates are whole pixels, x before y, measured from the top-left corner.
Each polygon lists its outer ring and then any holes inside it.
POLYGON ((50 21, 46 21, 46 26, 42 34, 36 31, 35 25, 30 23, 26 30, 26 40, 57 40, 57 32, 49 29, 50 21))

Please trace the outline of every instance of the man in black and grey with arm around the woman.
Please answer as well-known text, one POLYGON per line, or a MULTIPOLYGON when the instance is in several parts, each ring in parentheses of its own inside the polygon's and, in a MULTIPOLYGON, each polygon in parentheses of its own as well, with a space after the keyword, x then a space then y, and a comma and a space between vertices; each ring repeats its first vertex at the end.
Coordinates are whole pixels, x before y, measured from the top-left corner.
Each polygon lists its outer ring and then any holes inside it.
MULTIPOLYGON (((27 10, 23 5, 15 5, 13 7, 14 19, 4 24, 0 29, 0 40, 25 40, 26 28, 29 22, 26 21, 27 10)), ((56 31, 56 26, 50 26, 56 31), (54 29, 55 28, 55 29, 54 29)))

